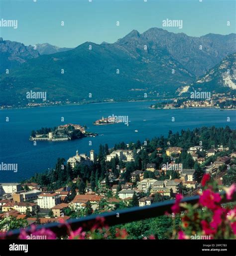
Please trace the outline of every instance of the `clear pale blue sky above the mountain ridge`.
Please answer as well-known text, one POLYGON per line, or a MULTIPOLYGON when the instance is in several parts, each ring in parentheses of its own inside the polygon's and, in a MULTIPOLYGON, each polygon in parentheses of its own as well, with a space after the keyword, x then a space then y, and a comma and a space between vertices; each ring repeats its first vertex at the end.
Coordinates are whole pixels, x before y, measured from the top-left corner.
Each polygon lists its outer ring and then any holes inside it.
POLYGON ((76 47, 112 43, 132 29, 142 33, 151 27, 191 36, 230 34, 236 32, 235 16, 235 0, 0 0, 0 19, 18 20, 17 29, 0 27, 0 36, 25 45, 76 47), (183 28, 162 27, 166 18, 182 19, 183 28))

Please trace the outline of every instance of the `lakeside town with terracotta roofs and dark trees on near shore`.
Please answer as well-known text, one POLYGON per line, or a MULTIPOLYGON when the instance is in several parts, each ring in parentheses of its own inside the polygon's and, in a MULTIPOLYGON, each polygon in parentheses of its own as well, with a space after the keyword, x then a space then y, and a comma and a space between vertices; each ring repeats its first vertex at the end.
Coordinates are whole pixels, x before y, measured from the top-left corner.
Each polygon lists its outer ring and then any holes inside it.
MULTIPOLYGON (((70 125, 67 125, 67 127, 70 125)), ((210 174, 221 188, 236 182, 236 130, 196 128, 113 148, 76 151, 55 169, 21 183, 0 183, 0 230, 60 222, 201 193, 210 174)))

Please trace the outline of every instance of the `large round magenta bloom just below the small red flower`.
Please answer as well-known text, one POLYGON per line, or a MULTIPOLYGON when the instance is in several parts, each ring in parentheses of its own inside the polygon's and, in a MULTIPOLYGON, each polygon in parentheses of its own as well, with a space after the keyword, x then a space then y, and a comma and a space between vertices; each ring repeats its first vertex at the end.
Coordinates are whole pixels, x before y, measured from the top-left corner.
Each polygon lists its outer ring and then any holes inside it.
POLYGON ((199 203, 202 206, 208 207, 211 210, 218 208, 217 203, 221 202, 221 195, 214 193, 212 190, 207 189, 203 191, 203 194, 199 198, 199 203))

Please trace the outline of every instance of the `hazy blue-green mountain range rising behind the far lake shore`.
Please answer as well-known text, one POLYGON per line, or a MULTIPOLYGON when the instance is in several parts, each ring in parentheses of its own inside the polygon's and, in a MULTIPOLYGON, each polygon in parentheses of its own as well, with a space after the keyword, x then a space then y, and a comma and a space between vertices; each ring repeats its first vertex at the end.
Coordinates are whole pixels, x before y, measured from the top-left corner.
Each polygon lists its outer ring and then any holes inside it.
MULTIPOLYGON (((0 45, 4 42, 9 49, 3 70, 20 58, 20 51, 10 49, 10 41, 1 40, 0 45)), ((25 105, 30 90, 45 91, 47 100, 62 102, 143 99, 145 93, 153 98, 186 86, 232 90, 235 42, 236 34, 191 37, 151 28, 142 34, 132 30, 112 44, 86 42, 75 49, 43 44, 32 50, 32 46, 20 44, 22 61, 9 74, 1 75, 0 104, 25 105), (49 54, 53 51, 57 52, 49 54), (219 80, 223 73, 225 82, 219 80)))

